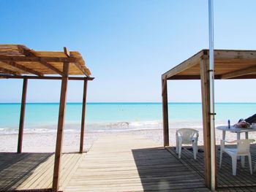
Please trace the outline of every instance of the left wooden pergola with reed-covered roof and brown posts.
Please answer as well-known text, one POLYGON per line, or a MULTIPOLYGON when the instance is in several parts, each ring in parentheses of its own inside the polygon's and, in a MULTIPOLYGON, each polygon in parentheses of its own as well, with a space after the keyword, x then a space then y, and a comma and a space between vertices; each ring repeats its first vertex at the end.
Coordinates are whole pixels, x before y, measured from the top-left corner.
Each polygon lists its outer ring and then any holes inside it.
POLYGON ((86 90, 91 72, 77 51, 35 51, 25 45, 0 45, 0 78, 23 79, 23 93, 20 108, 20 125, 18 133, 18 153, 22 152, 23 127, 26 107, 26 90, 29 79, 61 80, 61 97, 56 138, 55 162, 53 171, 53 191, 59 189, 59 172, 61 164, 62 137, 66 107, 68 80, 83 80, 83 108, 80 132, 80 153, 83 153, 83 135, 86 115, 86 90), (75 76, 74 76, 75 75, 75 76))

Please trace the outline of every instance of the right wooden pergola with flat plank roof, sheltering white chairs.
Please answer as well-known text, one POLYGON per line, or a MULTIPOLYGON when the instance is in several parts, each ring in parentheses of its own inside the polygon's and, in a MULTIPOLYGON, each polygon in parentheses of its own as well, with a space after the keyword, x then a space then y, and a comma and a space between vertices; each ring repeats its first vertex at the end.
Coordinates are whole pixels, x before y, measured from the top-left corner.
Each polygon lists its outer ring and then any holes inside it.
MULTIPOLYGON (((211 188, 211 131, 209 95, 209 50, 197 54, 162 74, 162 114, 164 146, 169 146, 167 80, 200 80, 203 111, 205 182, 211 188)), ((256 50, 214 50, 216 80, 256 79, 256 50)), ((214 141, 215 144, 215 141, 214 141)), ((215 151, 214 151, 215 153, 215 151)), ((215 161, 216 167, 216 161, 215 161)), ((216 178, 216 175, 215 175, 216 178)))

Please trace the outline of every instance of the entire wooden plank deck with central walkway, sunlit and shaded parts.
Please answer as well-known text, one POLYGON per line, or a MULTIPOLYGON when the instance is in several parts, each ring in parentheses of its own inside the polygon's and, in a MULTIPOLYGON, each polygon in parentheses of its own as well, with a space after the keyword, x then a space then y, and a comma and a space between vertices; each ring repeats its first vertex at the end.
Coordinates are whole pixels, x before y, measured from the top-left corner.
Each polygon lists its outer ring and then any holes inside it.
MULTIPOLYGON (((202 148, 202 147, 200 147, 202 148)), ((53 153, 0 153, 0 191, 50 191, 53 153)), ((252 163, 256 145, 252 145, 252 163)), ((217 163, 219 150, 217 151, 217 163)), ((256 173, 223 156, 218 169, 218 191, 255 191, 256 173)), ((89 153, 65 153, 61 161, 60 191, 208 191, 204 185, 203 153, 193 159, 184 147, 178 159, 174 147, 159 147, 137 135, 109 135, 94 142, 89 153)))

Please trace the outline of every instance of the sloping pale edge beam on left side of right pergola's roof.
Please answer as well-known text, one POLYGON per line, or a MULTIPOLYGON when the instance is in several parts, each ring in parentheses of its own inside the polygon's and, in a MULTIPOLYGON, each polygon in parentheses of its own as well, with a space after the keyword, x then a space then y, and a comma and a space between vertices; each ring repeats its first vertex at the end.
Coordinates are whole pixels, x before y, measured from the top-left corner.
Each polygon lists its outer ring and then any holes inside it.
POLYGON ((165 72, 165 74, 162 74, 162 80, 165 79, 165 76, 167 76, 167 79, 172 77, 173 75, 176 75, 180 72, 183 72, 186 69, 189 69, 192 66, 197 65, 200 62, 200 58, 203 55, 204 52, 207 50, 201 50, 197 54, 193 55, 191 58, 187 59, 186 61, 182 62, 178 66, 175 66, 173 69, 170 69, 169 71, 165 72))

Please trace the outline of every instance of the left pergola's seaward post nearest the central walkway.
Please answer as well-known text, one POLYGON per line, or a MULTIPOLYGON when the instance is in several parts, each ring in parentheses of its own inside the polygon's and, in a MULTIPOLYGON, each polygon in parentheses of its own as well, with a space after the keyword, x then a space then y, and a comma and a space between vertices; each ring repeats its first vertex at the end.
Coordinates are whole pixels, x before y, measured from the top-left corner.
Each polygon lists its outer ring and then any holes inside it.
POLYGON ((87 93, 87 80, 83 81, 83 108, 82 108, 82 120, 81 120, 81 134, 80 134, 80 153, 83 153, 83 135, 86 118, 86 93, 87 93))

